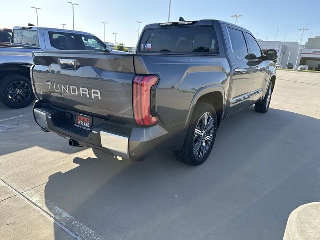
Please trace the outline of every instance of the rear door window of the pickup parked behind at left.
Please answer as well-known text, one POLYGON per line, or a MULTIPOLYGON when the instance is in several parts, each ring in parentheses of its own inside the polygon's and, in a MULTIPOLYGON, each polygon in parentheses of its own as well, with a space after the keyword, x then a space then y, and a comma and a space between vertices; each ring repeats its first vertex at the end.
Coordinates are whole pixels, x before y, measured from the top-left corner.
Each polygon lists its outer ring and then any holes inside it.
POLYGON ((73 33, 49 31, 51 46, 59 50, 79 50, 76 37, 73 33))

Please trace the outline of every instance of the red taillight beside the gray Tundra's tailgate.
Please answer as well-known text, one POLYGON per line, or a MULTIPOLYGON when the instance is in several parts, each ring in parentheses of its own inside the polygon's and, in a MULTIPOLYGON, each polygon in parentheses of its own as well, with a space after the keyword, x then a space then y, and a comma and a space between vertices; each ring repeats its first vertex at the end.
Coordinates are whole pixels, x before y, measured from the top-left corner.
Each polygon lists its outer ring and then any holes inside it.
POLYGON ((133 79, 133 111, 137 125, 150 126, 158 122, 151 116, 151 88, 158 81, 157 76, 139 76, 133 79))

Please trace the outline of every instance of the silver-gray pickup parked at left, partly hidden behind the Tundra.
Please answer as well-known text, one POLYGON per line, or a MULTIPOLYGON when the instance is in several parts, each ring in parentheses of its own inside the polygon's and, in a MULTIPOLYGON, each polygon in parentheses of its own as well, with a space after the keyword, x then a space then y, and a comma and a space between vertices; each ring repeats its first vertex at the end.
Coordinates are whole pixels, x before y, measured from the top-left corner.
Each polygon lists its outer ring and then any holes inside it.
POLYGON ((33 51, 111 51, 90 33, 66 29, 15 26, 9 39, 8 46, 0 46, 0 100, 11 108, 26 107, 34 100, 30 82, 33 51))

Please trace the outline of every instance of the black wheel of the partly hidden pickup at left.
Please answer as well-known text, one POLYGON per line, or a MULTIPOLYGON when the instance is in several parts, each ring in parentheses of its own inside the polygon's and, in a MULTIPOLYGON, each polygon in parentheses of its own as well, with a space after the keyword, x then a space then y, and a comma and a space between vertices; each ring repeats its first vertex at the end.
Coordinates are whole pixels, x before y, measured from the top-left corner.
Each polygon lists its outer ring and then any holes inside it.
POLYGON ((10 74, 0 79, 0 98, 4 105, 23 108, 34 100, 31 80, 23 75, 10 74))

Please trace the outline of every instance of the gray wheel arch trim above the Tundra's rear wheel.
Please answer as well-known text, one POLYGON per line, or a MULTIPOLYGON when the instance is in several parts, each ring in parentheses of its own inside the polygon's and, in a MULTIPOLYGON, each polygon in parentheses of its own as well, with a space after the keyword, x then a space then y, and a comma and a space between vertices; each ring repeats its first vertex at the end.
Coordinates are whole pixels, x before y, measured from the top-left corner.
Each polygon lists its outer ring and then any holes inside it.
POLYGON ((212 85, 212 86, 207 86, 200 88, 194 95, 189 112, 186 118, 184 130, 187 131, 190 120, 193 114, 193 111, 195 109, 196 103, 197 102, 207 102, 210 103, 217 114, 218 118, 218 127, 222 121, 223 113, 225 110, 225 94, 224 94, 224 89, 222 85, 212 85))

